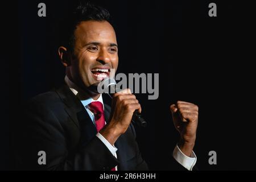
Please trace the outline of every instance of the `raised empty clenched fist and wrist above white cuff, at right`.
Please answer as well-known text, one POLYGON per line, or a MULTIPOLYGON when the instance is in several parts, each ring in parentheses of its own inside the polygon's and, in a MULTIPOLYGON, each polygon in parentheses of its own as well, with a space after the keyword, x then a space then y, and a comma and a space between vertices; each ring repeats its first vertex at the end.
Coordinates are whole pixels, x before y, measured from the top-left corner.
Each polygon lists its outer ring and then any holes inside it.
POLYGON ((185 155, 190 156, 196 140, 199 108, 189 102, 177 101, 170 109, 174 126, 181 137, 178 145, 185 155))

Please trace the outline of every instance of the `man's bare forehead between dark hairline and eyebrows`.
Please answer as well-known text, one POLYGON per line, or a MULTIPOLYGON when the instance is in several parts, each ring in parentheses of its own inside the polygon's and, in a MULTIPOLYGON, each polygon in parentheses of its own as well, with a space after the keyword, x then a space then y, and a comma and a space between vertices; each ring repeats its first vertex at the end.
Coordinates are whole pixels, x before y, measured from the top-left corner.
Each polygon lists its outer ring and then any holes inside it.
POLYGON ((84 21, 77 25, 74 32, 76 41, 116 43, 115 31, 107 21, 84 21))

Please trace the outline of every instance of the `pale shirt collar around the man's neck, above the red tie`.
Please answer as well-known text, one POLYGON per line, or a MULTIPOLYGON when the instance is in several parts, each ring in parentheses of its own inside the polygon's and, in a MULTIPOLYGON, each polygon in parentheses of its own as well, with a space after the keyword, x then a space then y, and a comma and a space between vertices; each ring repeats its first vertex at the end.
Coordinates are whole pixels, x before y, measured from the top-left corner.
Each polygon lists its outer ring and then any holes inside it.
POLYGON ((65 82, 66 84, 68 85, 69 89, 71 89, 71 91, 80 99, 80 101, 82 102, 82 105, 83 106, 88 106, 90 103, 92 102, 95 102, 95 101, 98 101, 98 102, 101 102, 101 104, 103 105, 103 108, 104 108, 104 104, 103 104, 103 100, 102 100, 102 94, 100 94, 100 97, 98 97, 97 100, 94 100, 92 97, 84 100, 84 99, 81 99, 81 95, 78 94, 78 93, 82 93, 82 89, 80 89, 76 84, 74 84, 69 78, 68 76, 66 75, 65 76, 65 82))

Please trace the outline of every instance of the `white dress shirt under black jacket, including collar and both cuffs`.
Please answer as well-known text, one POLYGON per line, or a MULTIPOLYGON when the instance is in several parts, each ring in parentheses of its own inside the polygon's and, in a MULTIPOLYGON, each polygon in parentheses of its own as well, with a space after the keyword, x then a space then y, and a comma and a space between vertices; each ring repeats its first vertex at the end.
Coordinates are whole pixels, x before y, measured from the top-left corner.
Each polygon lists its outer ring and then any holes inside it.
MULTIPOLYGON (((71 91, 76 96, 79 97, 82 105, 85 107, 85 110, 88 112, 90 118, 92 119, 92 122, 95 125, 94 114, 92 113, 92 111, 90 111, 88 109, 88 105, 92 102, 99 101, 102 103, 103 109, 104 109, 102 95, 100 94, 100 97, 97 100, 93 100, 93 98, 88 98, 88 99, 84 100, 83 98, 80 97, 80 94, 77 94, 77 93, 79 93, 79 90, 81 90, 81 89, 78 86, 76 86, 71 80, 69 80, 69 78, 67 76, 65 76, 65 82, 69 86, 71 91)), ((109 151, 115 156, 115 158, 117 158, 117 148, 115 146, 112 146, 112 144, 110 144, 108 142, 108 140, 106 140, 100 133, 97 133, 96 136, 105 144, 106 147, 108 147, 109 151)), ((192 168, 196 164, 197 158, 196 158, 196 154, 193 151, 192 151, 191 157, 188 157, 187 155, 183 154, 183 152, 181 152, 180 148, 176 145, 172 155, 174 156, 174 159, 178 163, 180 163, 183 167, 187 168, 189 171, 191 171, 192 168)), ((115 170, 117 171, 117 166, 115 166, 115 170)))

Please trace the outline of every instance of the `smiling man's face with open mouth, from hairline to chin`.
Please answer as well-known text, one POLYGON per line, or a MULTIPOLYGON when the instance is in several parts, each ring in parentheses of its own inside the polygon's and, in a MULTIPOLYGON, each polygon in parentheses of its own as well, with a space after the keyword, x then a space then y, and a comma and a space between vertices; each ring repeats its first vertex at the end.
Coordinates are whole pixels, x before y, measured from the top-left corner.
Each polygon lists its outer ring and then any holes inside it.
POLYGON ((81 22, 75 32, 71 76, 82 88, 97 85, 117 69, 118 53, 114 28, 109 22, 81 22))

